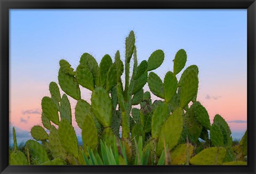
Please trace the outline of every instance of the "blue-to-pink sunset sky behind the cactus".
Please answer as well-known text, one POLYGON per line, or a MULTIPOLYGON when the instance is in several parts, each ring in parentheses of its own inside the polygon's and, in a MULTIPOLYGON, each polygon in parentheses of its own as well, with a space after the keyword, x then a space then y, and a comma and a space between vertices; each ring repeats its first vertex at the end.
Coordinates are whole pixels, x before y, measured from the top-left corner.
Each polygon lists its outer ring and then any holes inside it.
MULTIPOLYGON (((220 114, 239 139, 247 125, 246 18, 246 10, 10 10, 10 127, 17 128, 22 142, 31 127, 42 125, 41 100, 50 97, 50 82, 58 83, 60 59, 76 69, 83 53, 100 63, 119 50, 124 60, 125 38, 133 30, 139 63, 157 49, 164 51, 163 64, 153 71, 162 80, 173 71, 177 51, 186 50, 185 68, 199 68, 197 100, 211 122, 220 114)), ((89 90, 81 94, 90 102, 89 90)), ((69 100, 79 135, 76 101, 69 100)))

